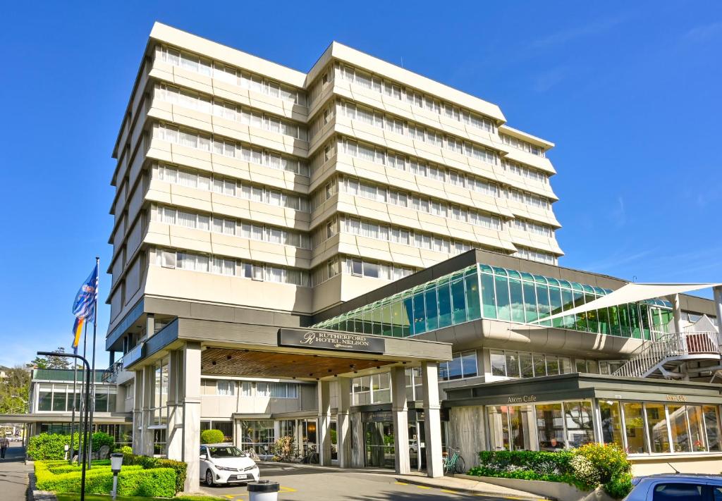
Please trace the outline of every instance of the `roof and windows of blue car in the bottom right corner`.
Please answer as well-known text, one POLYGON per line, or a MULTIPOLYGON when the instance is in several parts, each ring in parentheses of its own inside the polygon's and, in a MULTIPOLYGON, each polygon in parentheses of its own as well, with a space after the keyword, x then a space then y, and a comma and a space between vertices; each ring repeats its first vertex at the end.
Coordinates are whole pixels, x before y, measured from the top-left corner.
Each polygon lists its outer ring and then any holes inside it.
POLYGON ((722 476, 658 474, 632 480, 624 501, 722 501, 722 476))

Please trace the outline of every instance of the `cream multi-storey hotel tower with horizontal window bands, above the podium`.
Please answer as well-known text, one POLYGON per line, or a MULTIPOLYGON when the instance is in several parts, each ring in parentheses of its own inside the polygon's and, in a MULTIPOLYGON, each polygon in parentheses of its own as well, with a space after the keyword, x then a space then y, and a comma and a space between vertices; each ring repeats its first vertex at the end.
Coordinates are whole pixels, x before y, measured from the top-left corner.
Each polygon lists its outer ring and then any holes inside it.
POLYGON ((142 297, 311 315, 470 248, 556 263, 552 146, 339 43, 305 74, 156 24, 113 152, 110 331, 142 297))

